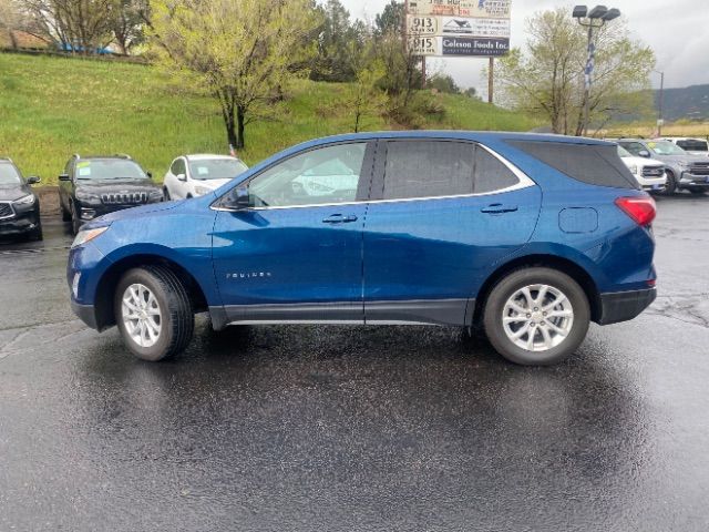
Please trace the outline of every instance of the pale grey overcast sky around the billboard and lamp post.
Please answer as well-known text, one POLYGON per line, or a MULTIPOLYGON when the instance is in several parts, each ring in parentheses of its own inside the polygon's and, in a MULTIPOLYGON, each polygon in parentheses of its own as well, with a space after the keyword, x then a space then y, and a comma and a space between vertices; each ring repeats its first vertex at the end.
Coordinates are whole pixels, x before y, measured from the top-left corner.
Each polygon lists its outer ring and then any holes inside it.
MULTIPOLYGON (((390 0, 340 0, 353 18, 373 19, 390 0)), ((583 3, 579 1, 578 3, 583 3)), ((525 19, 536 11, 574 3, 554 0, 512 0, 512 45, 526 42, 525 19)), ((596 3, 587 3, 590 8, 596 3)), ((709 83, 709 1, 708 0, 615 0, 604 2, 625 16, 634 39, 655 50, 658 71, 665 71, 665 86, 709 83)), ((475 86, 487 93, 487 80, 481 70, 487 59, 429 59, 435 70, 450 73, 461 86, 475 86)), ((651 78, 659 86, 659 74, 651 78)))

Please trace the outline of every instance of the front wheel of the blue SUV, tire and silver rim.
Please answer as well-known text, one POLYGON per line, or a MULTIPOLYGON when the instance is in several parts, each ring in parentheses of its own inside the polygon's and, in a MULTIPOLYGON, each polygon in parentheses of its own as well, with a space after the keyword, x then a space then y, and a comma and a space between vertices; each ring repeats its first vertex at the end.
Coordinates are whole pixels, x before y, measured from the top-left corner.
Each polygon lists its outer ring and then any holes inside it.
MULTIPOLYGON (((124 344, 133 355, 143 360, 155 362, 169 358, 184 351, 192 341, 195 328, 192 301, 177 276, 165 267, 145 266, 126 272, 116 288, 113 310, 124 344), (138 287, 143 287, 147 293, 140 291, 138 287), (132 309, 125 301, 135 301, 135 290, 138 290, 138 299, 146 305, 142 315, 144 319, 126 318, 126 314, 130 315, 132 309), (155 315, 151 314, 151 309, 154 311, 155 308, 160 313, 157 320, 155 315), (147 320, 157 323, 155 338, 147 329, 151 327, 147 320), (141 321, 144 321, 143 330, 141 321)), ((154 328, 152 330, 155 331, 154 328)))

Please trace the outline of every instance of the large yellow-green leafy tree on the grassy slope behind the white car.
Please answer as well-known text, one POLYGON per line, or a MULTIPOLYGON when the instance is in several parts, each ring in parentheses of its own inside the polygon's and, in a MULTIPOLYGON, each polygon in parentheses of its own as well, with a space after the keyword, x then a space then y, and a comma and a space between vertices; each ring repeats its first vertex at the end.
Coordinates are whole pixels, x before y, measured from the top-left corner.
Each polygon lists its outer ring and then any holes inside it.
POLYGON ((320 21, 310 0, 153 0, 158 63, 219 102, 229 144, 308 69, 320 21))

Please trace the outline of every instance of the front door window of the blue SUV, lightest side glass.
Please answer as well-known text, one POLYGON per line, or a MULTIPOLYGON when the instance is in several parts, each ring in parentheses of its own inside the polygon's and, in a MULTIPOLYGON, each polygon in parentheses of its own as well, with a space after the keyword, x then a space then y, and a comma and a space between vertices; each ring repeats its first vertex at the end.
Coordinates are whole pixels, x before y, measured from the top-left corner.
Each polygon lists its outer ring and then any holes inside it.
POLYGON ((276 164, 249 183, 256 207, 349 203, 357 200, 367 143, 311 150, 276 164))

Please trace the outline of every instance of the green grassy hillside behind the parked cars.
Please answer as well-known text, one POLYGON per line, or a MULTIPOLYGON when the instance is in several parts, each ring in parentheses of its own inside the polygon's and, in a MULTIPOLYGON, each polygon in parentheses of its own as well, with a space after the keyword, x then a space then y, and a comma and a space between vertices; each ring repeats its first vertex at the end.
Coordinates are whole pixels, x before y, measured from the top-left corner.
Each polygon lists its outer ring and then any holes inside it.
MULTIPOLYGON (((297 142, 347 133, 345 85, 300 82, 275 119, 247 129, 249 164, 297 142)), ((429 129, 525 131, 518 114, 464 96, 438 95, 443 116, 429 129)), ((391 129, 381 117, 368 130, 391 129)), ((135 64, 0 53, 0 156, 25 175, 55 183, 72 153, 129 153, 162 180, 178 154, 227 151, 218 105, 176 88, 155 69, 135 64)))

